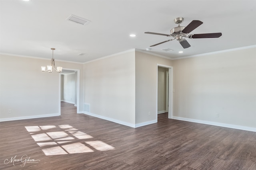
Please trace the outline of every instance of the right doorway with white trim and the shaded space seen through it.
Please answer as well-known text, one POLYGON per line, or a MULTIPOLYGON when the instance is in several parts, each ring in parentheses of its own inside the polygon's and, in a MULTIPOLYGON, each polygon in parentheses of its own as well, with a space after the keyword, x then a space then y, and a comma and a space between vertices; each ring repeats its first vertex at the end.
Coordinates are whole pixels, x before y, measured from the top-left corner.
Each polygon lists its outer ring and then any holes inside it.
POLYGON ((172 66, 157 64, 157 115, 168 113, 172 118, 172 66))

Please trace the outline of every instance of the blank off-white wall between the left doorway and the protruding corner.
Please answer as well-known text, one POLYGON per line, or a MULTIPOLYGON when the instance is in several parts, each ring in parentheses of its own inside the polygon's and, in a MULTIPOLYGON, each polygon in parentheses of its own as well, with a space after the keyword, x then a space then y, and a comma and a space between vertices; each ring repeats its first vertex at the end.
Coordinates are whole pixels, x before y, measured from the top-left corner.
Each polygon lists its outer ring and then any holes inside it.
POLYGON ((135 124, 135 52, 84 64, 84 103, 90 115, 135 124))

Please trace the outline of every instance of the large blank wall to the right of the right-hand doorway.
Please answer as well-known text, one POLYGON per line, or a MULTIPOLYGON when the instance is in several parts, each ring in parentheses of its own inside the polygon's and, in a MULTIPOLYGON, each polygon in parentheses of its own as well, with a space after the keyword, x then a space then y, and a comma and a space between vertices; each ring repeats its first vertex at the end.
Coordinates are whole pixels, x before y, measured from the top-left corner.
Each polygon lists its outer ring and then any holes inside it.
POLYGON ((255 54, 251 48, 175 60, 174 118, 256 127, 255 54))

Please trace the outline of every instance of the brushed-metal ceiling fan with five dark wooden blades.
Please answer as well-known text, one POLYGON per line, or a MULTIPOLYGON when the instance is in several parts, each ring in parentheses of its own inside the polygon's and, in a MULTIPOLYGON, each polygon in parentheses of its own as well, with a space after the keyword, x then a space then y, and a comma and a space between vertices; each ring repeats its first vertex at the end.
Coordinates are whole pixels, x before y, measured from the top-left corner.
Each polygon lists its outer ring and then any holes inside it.
POLYGON ((184 27, 184 26, 180 26, 180 23, 182 23, 183 21, 184 21, 184 18, 182 18, 182 17, 178 17, 178 18, 174 19, 174 22, 178 24, 178 27, 172 28, 170 30, 170 32, 171 32, 170 35, 162 34, 162 33, 145 32, 147 34, 156 34, 156 35, 164 35, 164 36, 167 36, 167 37, 174 37, 173 39, 168 39, 168 40, 163 41, 161 43, 151 45, 150 47, 154 47, 156 45, 159 45, 159 44, 166 43, 168 41, 172 41, 174 39, 177 39, 179 41, 180 45, 182 45, 182 47, 184 49, 186 49, 186 48, 190 47, 190 44, 188 43, 188 41, 186 39, 184 39, 184 37, 190 38, 190 39, 194 39, 194 38, 218 38, 222 35, 222 33, 202 33, 202 34, 190 34, 190 35, 188 35, 188 33, 193 31, 194 29, 196 29, 203 22, 199 21, 199 20, 193 20, 188 24, 188 26, 184 27))

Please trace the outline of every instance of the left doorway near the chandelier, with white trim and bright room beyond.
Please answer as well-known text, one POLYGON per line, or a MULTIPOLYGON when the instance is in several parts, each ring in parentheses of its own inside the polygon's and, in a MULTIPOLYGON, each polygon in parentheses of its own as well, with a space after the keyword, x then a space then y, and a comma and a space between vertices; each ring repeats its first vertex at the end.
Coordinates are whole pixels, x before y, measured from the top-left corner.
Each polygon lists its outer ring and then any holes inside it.
POLYGON ((63 68, 59 76, 59 89, 59 110, 61 102, 67 102, 74 104, 76 112, 80 113, 80 70, 63 68))

